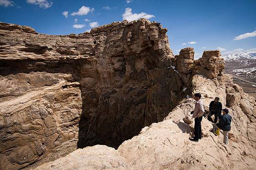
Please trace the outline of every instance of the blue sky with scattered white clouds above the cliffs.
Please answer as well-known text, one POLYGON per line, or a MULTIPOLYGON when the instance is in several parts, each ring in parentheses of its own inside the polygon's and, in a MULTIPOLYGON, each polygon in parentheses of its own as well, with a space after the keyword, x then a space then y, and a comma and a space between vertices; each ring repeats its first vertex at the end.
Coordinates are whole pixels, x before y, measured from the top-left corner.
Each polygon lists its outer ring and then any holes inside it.
POLYGON ((139 17, 168 29, 175 54, 188 46, 196 57, 204 50, 256 51, 256 0, 0 0, 1 22, 51 35, 139 17))

